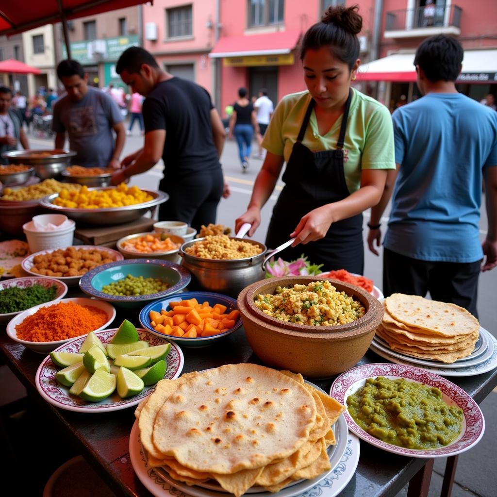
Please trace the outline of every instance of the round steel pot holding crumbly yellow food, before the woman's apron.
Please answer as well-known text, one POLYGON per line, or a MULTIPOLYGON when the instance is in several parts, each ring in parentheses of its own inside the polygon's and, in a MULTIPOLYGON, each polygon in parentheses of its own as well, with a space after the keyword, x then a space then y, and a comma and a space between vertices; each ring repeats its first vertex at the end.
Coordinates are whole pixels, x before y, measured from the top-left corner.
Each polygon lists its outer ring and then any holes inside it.
POLYGON ((253 257, 244 259, 204 259, 185 252, 186 248, 201 242, 204 240, 203 238, 184 243, 179 249, 179 255, 183 258, 182 265, 192 274, 193 286, 196 285, 203 290, 219 292, 237 298, 238 294, 246 286, 264 279, 265 271, 262 267, 262 262, 266 253, 266 246, 253 240, 230 238, 231 240, 257 245, 262 251, 253 257))

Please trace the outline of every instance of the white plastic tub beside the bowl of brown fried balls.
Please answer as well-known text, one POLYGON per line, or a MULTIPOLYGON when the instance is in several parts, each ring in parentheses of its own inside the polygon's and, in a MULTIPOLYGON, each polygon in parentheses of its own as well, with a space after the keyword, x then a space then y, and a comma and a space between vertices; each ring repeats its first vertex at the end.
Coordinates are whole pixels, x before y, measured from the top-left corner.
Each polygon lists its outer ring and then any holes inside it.
POLYGON ((68 219, 67 216, 64 216, 63 214, 41 214, 40 216, 34 216, 33 220, 22 225, 31 252, 66 248, 73 245, 76 223, 72 219, 68 219), (55 225, 61 225, 67 221, 69 226, 53 231, 37 231, 34 229, 34 219, 55 225))

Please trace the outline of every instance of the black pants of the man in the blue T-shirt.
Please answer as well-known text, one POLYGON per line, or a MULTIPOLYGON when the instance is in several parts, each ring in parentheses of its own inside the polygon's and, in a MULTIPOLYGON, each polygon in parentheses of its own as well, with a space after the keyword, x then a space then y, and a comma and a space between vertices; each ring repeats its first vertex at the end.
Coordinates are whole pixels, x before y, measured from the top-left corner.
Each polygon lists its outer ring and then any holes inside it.
POLYGON ((476 303, 482 261, 439 262, 413 259, 383 249, 383 293, 420 295, 430 292, 433 300, 450 302, 478 318, 476 303))

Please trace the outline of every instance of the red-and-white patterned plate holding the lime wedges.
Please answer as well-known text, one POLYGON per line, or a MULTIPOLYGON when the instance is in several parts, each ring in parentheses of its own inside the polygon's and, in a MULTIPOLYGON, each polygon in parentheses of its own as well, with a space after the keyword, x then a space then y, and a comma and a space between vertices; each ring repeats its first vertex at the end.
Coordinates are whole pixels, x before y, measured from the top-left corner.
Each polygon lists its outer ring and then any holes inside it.
MULTIPOLYGON (((115 335, 117 328, 110 330, 96 331, 95 334, 102 340, 103 343, 109 343, 112 337, 115 335)), ((162 343, 170 343, 171 350, 167 354, 167 371, 164 376, 167 380, 173 380, 181 374, 183 369, 183 353, 181 349, 173 342, 169 342, 164 338, 160 338, 150 331, 143 329, 138 329, 138 334, 140 335, 140 340, 146 340, 149 342, 150 346, 161 345, 162 343)), ((64 343, 56 349, 58 352, 78 352, 80 347, 83 345, 83 341, 86 335, 75 338, 74 340, 64 343)), ((120 409, 126 409, 128 407, 136 406, 145 397, 149 396, 155 389, 155 385, 150 387, 145 387, 143 391, 130 397, 128 399, 121 399, 114 392, 110 397, 104 399, 100 402, 86 402, 79 397, 69 394, 69 388, 61 385, 56 379, 55 374, 60 368, 58 368, 47 356, 43 362, 40 364, 38 371, 36 371, 36 388, 39 394, 50 404, 58 407, 60 409, 65 409, 67 411, 76 411, 79 413, 105 413, 108 411, 118 411, 120 409)))

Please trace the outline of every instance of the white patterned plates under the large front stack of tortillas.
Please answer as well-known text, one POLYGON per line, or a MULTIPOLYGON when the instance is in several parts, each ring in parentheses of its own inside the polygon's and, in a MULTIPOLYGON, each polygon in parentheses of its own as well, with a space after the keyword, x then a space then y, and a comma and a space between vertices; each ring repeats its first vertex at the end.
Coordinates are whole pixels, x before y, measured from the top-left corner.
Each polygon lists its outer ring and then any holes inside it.
MULTIPOLYGON (((334 470, 321 480, 313 488, 299 494, 298 497, 335 497, 337 496, 352 479, 357 464, 359 462, 360 445, 359 439, 349 433, 345 451, 334 470)), ((156 468, 149 467, 145 451, 140 443, 140 433, 138 430, 138 421, 135 421, 129 438, 129 455, 131 465, 135 470, 138 479, 143 483, 147 490, 155 497, 190 497, 190 494, 175 489, 165 482, 157 472, 156 468)), ((224 494, 228 495, 228 494, 224 494)), ((280 493, 264 495, 281 497, 280 493)))

